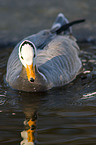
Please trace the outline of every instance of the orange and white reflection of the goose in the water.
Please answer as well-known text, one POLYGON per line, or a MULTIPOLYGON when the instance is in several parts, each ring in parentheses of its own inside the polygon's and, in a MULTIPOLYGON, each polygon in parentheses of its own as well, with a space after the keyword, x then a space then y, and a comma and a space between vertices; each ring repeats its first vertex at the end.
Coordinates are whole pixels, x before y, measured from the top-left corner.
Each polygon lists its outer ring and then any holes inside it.
POLYGON ((35 130, 38 114, 38 107, 40 105, 42 94, 22 94, 23 110, 25 114, 24 130, 21 132, 22 141, 20 145, 34 145, 35 144, 35 130), (23 96, 24 95, 24 96, 23 96))

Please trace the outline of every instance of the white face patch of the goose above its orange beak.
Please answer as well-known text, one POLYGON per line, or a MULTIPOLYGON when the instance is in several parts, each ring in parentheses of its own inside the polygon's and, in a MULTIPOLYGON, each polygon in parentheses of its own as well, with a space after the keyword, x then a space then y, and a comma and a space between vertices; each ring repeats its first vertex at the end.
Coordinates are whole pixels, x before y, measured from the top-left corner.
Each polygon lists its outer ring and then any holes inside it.
POLYGON ((24 46, 22 46, 21 55, 24 59, 25 64, 32 64, 34 52, 33 48, 29 44, 25 44, 24 46))

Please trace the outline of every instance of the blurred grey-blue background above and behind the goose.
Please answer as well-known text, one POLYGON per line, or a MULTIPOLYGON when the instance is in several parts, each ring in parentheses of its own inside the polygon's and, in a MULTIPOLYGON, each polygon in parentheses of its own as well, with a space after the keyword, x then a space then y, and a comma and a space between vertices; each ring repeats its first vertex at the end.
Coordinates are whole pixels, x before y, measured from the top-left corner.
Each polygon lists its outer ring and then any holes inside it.
POLYGON ((73 21, 86 22, 73 26, 78 41, 96 40, 96 0, 0 0, 0 45, 15 45, 24 37, 49 29, 58 13, 73 21))

